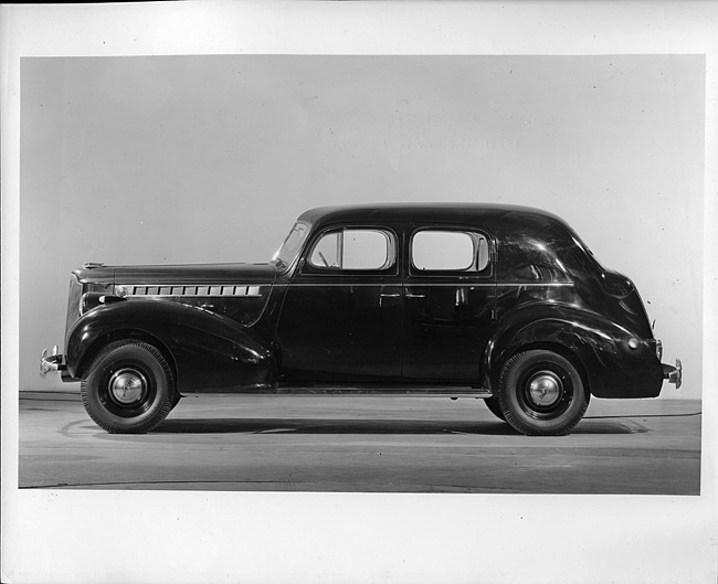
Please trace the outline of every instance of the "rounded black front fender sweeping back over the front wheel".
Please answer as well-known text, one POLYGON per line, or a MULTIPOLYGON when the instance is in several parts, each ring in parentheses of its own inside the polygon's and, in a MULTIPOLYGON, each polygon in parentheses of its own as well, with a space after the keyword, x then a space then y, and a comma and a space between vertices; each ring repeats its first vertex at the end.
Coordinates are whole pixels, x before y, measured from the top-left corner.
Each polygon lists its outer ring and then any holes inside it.
POLYGON ((169 353, 180 392, 264 385, 274 379, 271 343, 252 329, 202 308, 156 299, 99 306, 67 333, 67 371, 82 376, 109 340, 151 339, 169 353))

